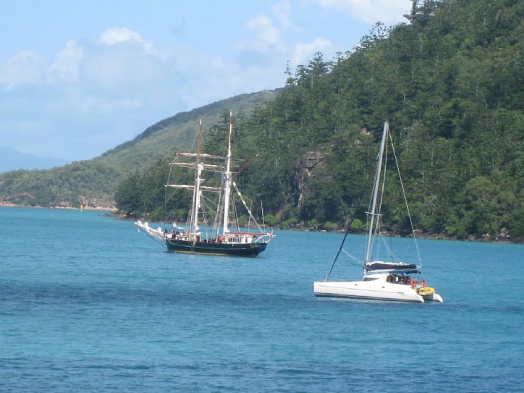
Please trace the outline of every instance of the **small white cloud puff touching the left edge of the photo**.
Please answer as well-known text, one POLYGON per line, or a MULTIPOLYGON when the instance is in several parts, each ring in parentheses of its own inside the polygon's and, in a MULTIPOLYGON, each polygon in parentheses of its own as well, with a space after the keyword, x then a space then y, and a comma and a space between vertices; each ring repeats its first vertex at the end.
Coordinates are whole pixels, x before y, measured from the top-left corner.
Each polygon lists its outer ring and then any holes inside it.
POLYGON ((42 81, 44 57, 33 50, 18 52, 0 63, 0 84, 6 90, 21 84, 38 84, 42 81))

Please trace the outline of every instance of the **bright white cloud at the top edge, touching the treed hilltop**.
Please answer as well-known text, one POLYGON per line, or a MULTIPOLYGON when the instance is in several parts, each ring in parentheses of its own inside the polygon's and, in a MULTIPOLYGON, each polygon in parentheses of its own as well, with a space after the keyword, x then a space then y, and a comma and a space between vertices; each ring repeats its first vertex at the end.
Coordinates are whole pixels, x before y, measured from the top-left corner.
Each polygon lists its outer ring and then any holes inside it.
POLYGON ((388 25, 399 23, 401 15, 411 9, 411 0, 312 0, 324 8, 347 13, 366 23, 378 21, 388 25))

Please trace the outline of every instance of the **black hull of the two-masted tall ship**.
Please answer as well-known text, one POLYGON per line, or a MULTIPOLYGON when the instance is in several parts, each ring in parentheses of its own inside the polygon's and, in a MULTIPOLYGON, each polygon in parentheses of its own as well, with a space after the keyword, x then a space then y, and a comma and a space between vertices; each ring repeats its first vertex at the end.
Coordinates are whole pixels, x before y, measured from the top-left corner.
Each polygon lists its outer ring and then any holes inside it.
POLYGON ((227 256, 258 256, 267 243, 207 243, 166 239, 167 250, 188 254, 210 254, 227 256))

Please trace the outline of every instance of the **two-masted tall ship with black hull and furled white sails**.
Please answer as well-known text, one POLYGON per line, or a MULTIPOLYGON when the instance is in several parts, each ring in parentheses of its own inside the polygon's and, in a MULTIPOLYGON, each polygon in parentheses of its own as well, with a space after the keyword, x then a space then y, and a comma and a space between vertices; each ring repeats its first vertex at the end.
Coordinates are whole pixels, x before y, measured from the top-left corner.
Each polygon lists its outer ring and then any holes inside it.
POLYGON ((148 222, 141 220, 135 222, 140 230, 166 246, 168 251, 222 256, 258 256, 266 250, 269 241, 275 237, 273 232, 265 232, 263 227, 256 222, 251 208, 248 207, 237 187, 237 183, 234 181, 232 135, 233 118, 232 113, 229 113, 226 156, 205 154, 202 151, 203 130, 202 120, 200 120, 197 152, 178 153, 177 158, 180 160, 170 164, 194 171, 193 184, 170 183, 168 180, 168 183, 164 186, 166 189, 182 189, 193 194, 185 226, 181 227, 173 223, 170 230, 162 227, 154 229, 149 226, 148 222), (215 177, 219 175, 220 184, 214 185, 208 182, 207 174, 215 177), (248 212, 249 228, 247 230, 242 230, 239 227, 238 220, 235 220, 236 215, 234 213, 237 212, 237 205, 232 198, 234 191, 241 205, 248 212), (207 195, 212 195, 212 197, 207 195), (212 227, 207 220, 207 212, 210 209, 206 208, 210 200, 216 202, 212 207, 212 216, 214 217, 212 227), (251 231, 251 223, 256 227, 256 231, 251 231), (232 229, 233 226, 234 229, 232 229))

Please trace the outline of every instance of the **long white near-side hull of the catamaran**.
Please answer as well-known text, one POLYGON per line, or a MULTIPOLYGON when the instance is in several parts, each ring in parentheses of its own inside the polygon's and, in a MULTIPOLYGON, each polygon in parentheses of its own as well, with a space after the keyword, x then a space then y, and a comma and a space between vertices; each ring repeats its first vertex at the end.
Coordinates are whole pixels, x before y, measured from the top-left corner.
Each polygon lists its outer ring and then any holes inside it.
POLYGON ((316 281, 313 283, 313 292, 317 297, 424 302, 423 297, 418 295, 409 285, 385 283, 383 281, 316 281))

